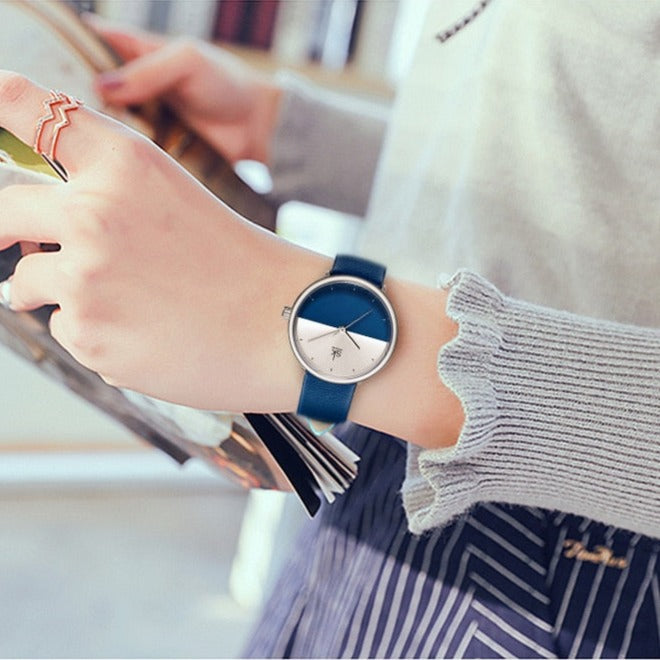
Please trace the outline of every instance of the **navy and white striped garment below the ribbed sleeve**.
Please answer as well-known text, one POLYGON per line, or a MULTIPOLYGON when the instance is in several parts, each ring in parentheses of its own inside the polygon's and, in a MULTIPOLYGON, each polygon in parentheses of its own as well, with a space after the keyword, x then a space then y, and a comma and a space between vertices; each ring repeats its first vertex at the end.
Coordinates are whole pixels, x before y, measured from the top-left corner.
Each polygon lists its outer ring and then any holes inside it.
POLYGON ((342 433, 358 480, 305 530, 249 657, 660 656, 660 542, 497 504, 413 536, 405 448, 342 433))

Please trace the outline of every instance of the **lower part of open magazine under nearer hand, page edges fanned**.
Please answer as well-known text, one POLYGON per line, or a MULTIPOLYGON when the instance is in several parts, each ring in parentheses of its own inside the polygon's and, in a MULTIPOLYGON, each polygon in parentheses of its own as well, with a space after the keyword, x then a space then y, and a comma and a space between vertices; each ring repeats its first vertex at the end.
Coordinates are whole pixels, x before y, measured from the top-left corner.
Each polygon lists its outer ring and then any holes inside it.
MULTIPOLYGON (((31 149, 0 129, 0 188, 66 185, 46 172, 31 149)), ((14 272, 20 257, 18 244, 0 251, 0 281, 14 272)), ((0 342, 179 463, 196 458, 246 488, 293 491, 310 516, 322 498, 332 502, 357 476, 355 453, 332 433, 317 434, 293 414, 197 410, 108 385, 52 338, 53 309, 0 307, 0 342)))

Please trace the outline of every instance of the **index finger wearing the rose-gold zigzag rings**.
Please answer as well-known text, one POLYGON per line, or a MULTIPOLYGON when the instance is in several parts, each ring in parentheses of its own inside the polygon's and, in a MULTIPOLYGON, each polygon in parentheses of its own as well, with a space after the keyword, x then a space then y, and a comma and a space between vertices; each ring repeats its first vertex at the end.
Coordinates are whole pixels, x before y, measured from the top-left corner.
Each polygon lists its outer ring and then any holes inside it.
POLYGON ((69 174, 98 163, 110 139, 108 130, 116 122, 84 106, 48 105, 50 99, 48 90, 0 69, 0 126, 33 146, 39 120, 43 119, 42 147, 46 150, 57 135, 55 158, 69 174))

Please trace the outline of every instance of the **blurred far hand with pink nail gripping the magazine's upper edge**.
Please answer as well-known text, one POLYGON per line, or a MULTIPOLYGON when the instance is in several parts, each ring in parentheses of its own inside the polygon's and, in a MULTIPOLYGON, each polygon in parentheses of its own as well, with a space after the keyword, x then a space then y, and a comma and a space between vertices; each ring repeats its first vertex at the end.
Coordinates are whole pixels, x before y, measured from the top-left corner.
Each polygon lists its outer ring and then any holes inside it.
POLYGON ((271 80, 203 41, 167 40, 94 15, 87 22, 127 62, 97 79, 106 103, 136 105, 162 97, 230 162, 268 162, 281 95, 271 80))

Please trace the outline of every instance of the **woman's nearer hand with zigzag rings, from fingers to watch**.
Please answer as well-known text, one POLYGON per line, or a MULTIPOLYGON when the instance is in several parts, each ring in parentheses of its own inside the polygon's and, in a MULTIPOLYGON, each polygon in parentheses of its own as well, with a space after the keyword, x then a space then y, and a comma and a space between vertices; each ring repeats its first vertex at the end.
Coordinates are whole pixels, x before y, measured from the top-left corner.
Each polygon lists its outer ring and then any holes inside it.
MULTIPOLYGON (((0 72, 0 125, 28 144, 48 92, 0 72)), ((282 307, 327 260, 254 227, 134 131, 84 106, 57 158, 68 183, 0 192, 0 249, 24 256, 11 305, 57 304, 53 337, 108 382, 182 404, 295 408, 282 307)))

